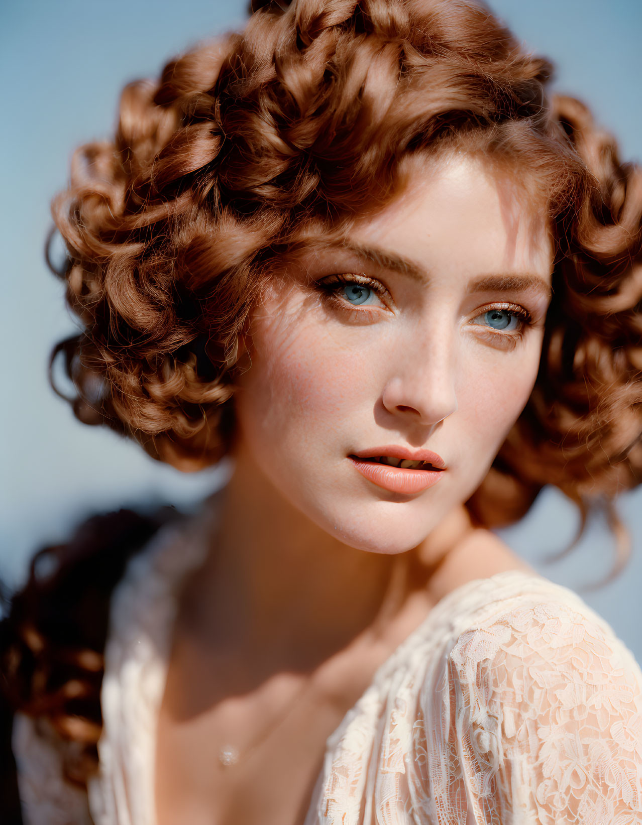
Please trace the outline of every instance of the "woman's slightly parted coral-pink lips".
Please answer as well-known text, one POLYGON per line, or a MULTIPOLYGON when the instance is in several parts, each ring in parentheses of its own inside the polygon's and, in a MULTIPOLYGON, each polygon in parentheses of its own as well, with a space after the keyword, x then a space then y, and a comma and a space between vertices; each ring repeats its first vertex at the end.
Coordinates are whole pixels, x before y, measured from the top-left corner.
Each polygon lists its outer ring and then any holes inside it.
POLYGON ((446 470, 446 462, 432 450, 408 450, 407 447, 390 445, 358 450, 348 455, 348 460, 357 472, 377 487, 406 495, 422 493, 437 484, 446 470), (381 463, 382 457, 399 461, 422 461, 425 464, 418 469, 394 467, 387 462, 381 463))

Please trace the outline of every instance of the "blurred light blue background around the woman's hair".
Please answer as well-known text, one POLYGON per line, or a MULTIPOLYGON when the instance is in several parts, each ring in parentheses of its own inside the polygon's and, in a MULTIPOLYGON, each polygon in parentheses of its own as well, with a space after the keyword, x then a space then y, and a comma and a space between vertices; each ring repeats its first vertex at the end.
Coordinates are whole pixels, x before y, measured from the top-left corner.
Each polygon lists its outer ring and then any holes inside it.
MULTIPOLYGON (((589 102, 642 159, 640 0, 494 0, 519 39, 554 59, 557 87, 589 102)), ((74 146, 110 134, 123 83, 158 73, 197 40, 241 25, 244 3, 220 0, 5 0, 0 12, 2 185, 2 500, 0 576, 18 583, 31 552, 64 540, 83 517, 111 507, 193 505, 229 466, 185 476, 149 460, 109 431, 83 427, 45 379, 50 347, 73 332, 61 285, 42 247, 49 201, 64 185, 74 146)), ((583 596, 642 661, 642 491, 621 499, 633 538, 625 574, 583 596)), ((503 535, 554 581, 580 589, 611 566, 613 540, 600 521, 563 563, 574 509, 545 490, 503 535)))

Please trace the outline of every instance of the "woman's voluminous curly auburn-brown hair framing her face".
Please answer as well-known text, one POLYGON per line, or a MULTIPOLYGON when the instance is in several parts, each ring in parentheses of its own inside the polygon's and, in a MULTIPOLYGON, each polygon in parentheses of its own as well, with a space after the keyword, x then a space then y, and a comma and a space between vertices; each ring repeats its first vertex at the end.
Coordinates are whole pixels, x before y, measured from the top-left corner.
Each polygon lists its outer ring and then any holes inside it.
MULTIPOLYGON (((470 512, 497 525, 546 483, 581 507, 639 483, 642 172, 585 106, 549 97, 551 71, 474 2, 296 0, 130 84, 115 139, 78 149, 54 201, 82 329, 52 361, 74 413, 181 469, 219 460, 262 286, 306 238, 388 202, 405 159, 460 148, 527 172, 555 241, 535 389, 470 512)), ((15 704, 45 707, 21 680, 15 704)))

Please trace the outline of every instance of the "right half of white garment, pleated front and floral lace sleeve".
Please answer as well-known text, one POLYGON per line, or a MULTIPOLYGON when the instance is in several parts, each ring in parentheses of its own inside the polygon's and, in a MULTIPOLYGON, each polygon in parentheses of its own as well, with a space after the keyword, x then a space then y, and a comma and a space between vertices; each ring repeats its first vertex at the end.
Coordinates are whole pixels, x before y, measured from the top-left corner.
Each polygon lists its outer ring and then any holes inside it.
POLYGON ((642 823, 642 672, 564 587, 461 587, 328 740, 305 825, 642 823))

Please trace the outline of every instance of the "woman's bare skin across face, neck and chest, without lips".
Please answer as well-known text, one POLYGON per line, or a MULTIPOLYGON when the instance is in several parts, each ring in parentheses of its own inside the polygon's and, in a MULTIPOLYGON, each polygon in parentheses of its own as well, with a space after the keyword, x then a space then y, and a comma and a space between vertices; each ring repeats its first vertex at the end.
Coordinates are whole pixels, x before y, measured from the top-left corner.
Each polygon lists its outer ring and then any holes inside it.
POLYGON ((343 243, 310 243, 267 290, 235 396, 234 475, 175 628, 159 825, 302 822, 325 739, 376 668, 447 592, 523 566, 463 502, 536 379, 552 268, 541 214, 473 158, 418 164, 379 214, 343 243), (382 294, 355 306, 316 283, 351 273, 382 294), (529 321, 493 329, 490 309, 529 321), (422 493, 389 493, 347 458, 386 444, 434 450, 447 469, 422 493), (228 742, 247 753, 222 768, 228 742))

